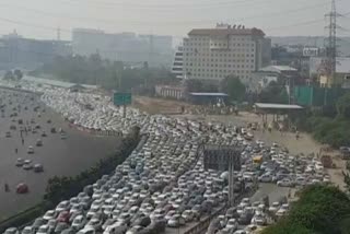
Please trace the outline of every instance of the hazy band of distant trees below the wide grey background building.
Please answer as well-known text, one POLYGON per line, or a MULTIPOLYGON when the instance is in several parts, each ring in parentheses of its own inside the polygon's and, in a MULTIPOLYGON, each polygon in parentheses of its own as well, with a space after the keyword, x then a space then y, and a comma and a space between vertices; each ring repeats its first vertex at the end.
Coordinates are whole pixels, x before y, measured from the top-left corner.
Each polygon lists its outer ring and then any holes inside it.
POLYGON ((93 84, 106 90, 150 87, 156 83, 171 83, 175 77, 165 68, 149 68, 148 63, 131 67, 122 61, 102 59, 98 54, 58 56, 52 61, 30 72, 34 77, 48 75, 78 84, 93 84))

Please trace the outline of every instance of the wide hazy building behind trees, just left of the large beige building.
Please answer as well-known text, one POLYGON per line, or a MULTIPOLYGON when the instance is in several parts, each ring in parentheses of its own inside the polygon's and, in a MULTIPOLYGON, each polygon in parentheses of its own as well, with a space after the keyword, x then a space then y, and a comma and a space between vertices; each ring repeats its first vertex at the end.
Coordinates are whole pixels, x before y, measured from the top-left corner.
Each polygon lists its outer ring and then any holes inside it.
POLYGON ((72 46, 77 55, 100 54, 104 59, 124 61, 130 66, 140 66, 145 61, 152 67, 170 67, 172 63, 171 36, 109 34, 100 30, 75 28, 72 34, 72 46))

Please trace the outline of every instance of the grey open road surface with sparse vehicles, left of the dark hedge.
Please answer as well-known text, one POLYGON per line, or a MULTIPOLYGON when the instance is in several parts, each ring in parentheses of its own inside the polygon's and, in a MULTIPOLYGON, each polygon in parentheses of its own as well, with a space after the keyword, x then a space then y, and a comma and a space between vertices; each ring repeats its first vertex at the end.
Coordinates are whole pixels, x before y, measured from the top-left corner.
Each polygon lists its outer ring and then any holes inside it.
MULTIPOLYGON (((2 93, 3 91, 0 90, 0 95, 2 93)), ((12 101, 14 105, 15 98, 12 101)), ((35 118, 48 136, 43 138, 39 133, 27 133, 27 136, 24 133, 24 145, 22 145, 19 130, 11 131, 11 138, 4 137, 5 131, 9 131, 13 124, 9 117, 12 107, 7 107, 5 117, 2 118, 0 115, 0 220, 39 202, 48 178, 54 175, 72 176, 79 174, 112 153, 119 142, 117 138, 98 138, 71 129, 58 114, 49 108, 45 108, 46 113, 38 118, 37 114, 33 112, 33 105, 37 105, 37 103, 30 103, 26 101, 26 104, 22 104, 19 118, 22 118, 24 122, 35 118), (28 106, 28 110, 24 110, 24 105, 28 106), (51 119, 52 124, 47 124, 47 119, 51 119), (61 140, 58 133, 50 133, 51 127, 65 129, 68 132, 68 138, 61 140), (35 147, 38 138, 43 139, 44 143, 40 148, 35 147), (33 145, 35 149, 35 153, 32 155, 26 153, 28 145, 33 145), (19 149, 18 154, 15 154, 15 148, 19 149), (14 164, 18 157, 31 159, 33 163, 43 164, 45 172, 35 174, 33 171, 16 167, 14 164), (4 183, 10 185, 11 192, 4 192, 4 183), (15 186, 19 183, 26 183, 31 192, 16 195, 15 186)), ((40 105, 44 106, 44 104, 40 105)), ((16 122, 15 125, 19 126, 16 122)))

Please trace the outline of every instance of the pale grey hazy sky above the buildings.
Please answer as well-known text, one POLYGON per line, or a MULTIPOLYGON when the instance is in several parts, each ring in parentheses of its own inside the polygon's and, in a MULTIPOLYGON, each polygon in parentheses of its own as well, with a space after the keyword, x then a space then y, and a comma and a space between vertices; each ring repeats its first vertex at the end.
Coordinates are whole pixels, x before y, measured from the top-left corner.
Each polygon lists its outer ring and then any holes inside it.
MULTIPOLYGON (((350 0, 337 0, 349 31, 350 0)), ((269 36, 325 35, 330 0, 0 0, 0 34, 69 39, 74 27, 185 36, 217 22, 260 27, 269 36)))

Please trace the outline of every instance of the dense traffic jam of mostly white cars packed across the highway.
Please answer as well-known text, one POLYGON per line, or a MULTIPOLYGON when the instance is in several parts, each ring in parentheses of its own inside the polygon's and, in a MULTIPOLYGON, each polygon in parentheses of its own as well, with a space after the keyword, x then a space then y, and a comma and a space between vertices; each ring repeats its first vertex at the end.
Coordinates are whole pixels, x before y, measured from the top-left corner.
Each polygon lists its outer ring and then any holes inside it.
MULTIPOLYGON (((9 85, 9 84, 8 84, 9 85)), ((185 233, 215 211, 207 233, 255 233, 288 214, 289 199, 258 200, 244 197, 229 202, 229 173, 205 169, 201 147, 237 147, 241 169, 234 172, 236 197, 270 184, 298 189, 310 184, 330 183, 324 163, 316 155, 291 155, 288 149, 254 139, 254 130, 221 122, 205 122, 122 108, 110 97, 70 92, 23 82, 22 89, 42 92, 42 102, 77 128, 118 131, 141 129, 141 141, 129 157, 69 200, 22 227, 5 234, 145 234, 185 233)))

